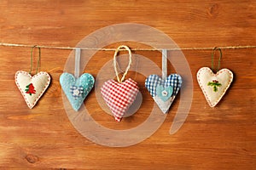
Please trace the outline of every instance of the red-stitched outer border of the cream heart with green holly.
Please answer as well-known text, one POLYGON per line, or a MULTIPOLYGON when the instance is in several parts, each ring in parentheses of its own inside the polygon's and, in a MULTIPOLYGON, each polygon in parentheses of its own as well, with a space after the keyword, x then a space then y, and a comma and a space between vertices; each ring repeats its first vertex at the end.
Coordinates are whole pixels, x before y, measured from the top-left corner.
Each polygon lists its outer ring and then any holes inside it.
POLYGON ((197 77, 197 82, 199 83, 199 86, 200 86, 200 88, 201 88, 201 90, 202 90, 204 96, 206 97, 207 103, 208 103, 208 105, 210 105, 210 107, 214 107, 215 105, 218 104, 218 102, 220 101, 220 99, 223 98, 223 96, 224 96, 224 94, 226 93, 226 91, 228 90, 228 88, 230 88, 230 84, 231 84, 231 82, 233 81, 233 73, 232 73, 232 71, 230 71, 229 69, 226 69, 226 68, 221 69, 221 70, 218 71, 216 74, 214 74, 214 73, 212 72, 212 70, 211 70, 209 67, 202 67, 199 71, 197 71, 196 77, 197 77), (222 73, 222 72, 224 72, 224 71, 227 71, 227 72, 230 74, 230 80, 229 80, 229 82, 228 82, 227 87, 224 88, 223 93, 218 97, 218 99, 217 99, 213 104, 211 103, 210 99, 208 98, 207 92, 205 91, 205 89, 203 88, 203 86, 202 86, 202 84, 201 84, 200 74, 201 74, 201 71, 203 71, 203 70, 207 70, 207 71, 212 75, 212 77, 217 77, 220 73, 222 73))

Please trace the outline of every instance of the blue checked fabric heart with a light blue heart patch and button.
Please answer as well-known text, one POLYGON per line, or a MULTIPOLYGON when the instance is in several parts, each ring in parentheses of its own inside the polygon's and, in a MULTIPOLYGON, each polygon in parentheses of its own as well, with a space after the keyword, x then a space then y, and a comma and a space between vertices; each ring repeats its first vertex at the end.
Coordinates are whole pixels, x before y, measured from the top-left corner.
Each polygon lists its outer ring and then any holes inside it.
POLYGON ((172 74, 165 80, 158 75, 150 75, 145 81, 146 88, 163 113, 169 111, 181 85, 182 77, 177 74, 172 74))

